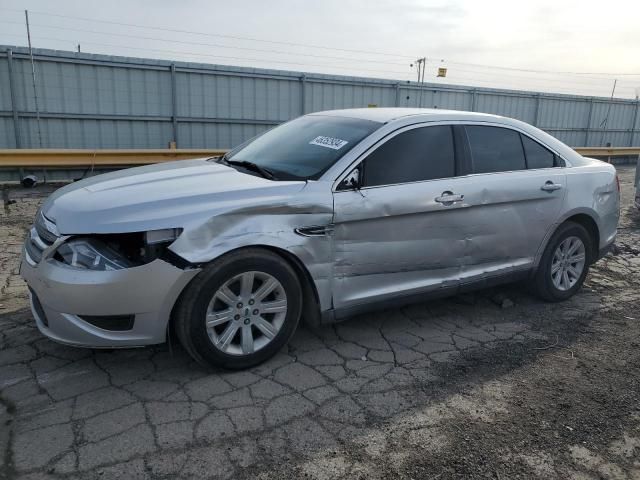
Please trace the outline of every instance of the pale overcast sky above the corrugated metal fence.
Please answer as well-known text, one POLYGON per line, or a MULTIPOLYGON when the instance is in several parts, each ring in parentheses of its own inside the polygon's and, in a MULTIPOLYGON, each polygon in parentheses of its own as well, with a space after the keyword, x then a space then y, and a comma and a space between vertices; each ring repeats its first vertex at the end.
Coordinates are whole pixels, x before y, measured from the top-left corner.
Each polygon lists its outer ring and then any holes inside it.
POLYGON ((0 44, 26 45, 25 8, 41 48, 400 80, 426 57, 430 82, 640 94, 640 0, 0 0, 0 44))

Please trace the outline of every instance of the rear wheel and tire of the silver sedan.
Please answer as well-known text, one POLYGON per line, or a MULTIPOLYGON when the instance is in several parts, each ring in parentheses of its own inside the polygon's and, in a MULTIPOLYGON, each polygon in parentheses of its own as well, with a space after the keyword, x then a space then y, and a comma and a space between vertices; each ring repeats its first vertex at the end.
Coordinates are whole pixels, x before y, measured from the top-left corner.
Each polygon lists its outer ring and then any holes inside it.
POLYGON ((548 302, 560 302, 572 297, 582 287, 589 272, 592 252, 593 240, 582 225, 574 222, 560 225, 549 240, 535 273, 535 293, 548 302), (574 262, 580 258, 581 251, 582 262, 574 262), (567 254, 566 257, 563 257, 563 252, 567 254), (566 272, 566 278, 563 272, 566 272), (579 275, 576 275, 577 272, 579 275))

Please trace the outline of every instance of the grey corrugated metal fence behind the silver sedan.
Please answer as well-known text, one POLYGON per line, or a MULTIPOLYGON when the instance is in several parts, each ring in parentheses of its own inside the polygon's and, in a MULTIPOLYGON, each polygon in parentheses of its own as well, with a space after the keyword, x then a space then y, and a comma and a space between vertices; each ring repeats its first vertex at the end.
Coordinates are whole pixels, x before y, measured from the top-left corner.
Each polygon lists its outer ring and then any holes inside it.
POLYGON ((637 100, 0 46, 0 148, 229 148, 303 113, 366 106, 496 113, 578 146, 640 144, 637 100), (606 120, 605 120, 606 119, 606 120), (41 141, 40 141, 41 139, 41 141))

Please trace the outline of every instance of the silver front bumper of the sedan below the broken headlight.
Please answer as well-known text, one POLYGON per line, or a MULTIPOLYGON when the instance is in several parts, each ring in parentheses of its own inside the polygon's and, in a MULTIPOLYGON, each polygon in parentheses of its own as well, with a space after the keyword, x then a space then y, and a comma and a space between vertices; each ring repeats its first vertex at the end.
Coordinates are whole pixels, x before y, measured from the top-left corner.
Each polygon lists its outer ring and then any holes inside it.
POLYGON ((31 295, 38 329, 60 343, 91 348, 151 345, 165 341, 171 309, 200 271, 163 260, 115 271, 69 268, 51 258, 36 265, 24 249, 20 274, 31 295), (126 331, 98 328, 80 316, 135 315, 126 331))

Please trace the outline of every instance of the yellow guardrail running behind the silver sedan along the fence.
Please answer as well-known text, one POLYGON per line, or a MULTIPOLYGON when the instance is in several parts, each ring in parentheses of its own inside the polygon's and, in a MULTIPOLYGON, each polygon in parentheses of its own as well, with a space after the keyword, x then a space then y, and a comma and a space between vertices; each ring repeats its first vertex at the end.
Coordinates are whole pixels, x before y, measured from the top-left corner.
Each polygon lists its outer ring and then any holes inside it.
MULTIPOLYGON (((640 156, 640 147, 580 147, 578 153, 588 157, 640 156)), ((130 166, 151 163, 215 157, 223 149, 152 149, 152 150, 91 150, 91 149, 0 149, 0 167, 59 168, 87 166, 130 166)))

